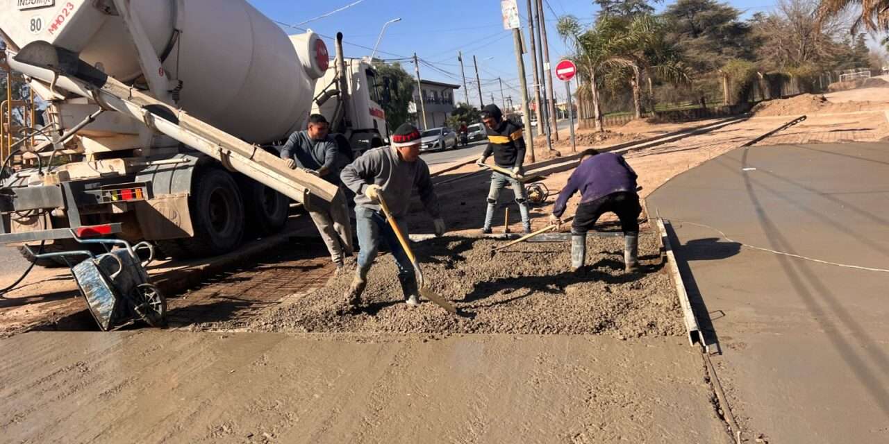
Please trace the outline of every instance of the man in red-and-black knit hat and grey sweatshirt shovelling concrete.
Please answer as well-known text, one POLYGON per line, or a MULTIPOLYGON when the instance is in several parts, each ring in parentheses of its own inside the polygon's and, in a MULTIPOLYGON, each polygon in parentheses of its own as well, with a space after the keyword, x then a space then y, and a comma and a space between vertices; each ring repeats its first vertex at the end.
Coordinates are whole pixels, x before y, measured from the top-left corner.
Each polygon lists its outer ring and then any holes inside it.
POLYGON ((434 219, 436 236, 445 234, 445 220, 438 209, 438 198, 429 177, 428 165, 420 159, 420 131, 410 123, 398 127, 391 136, 390 147, 378 147, 364 153, 340 173, 343 185, 355 192, 355 218, 358 234, 358 264, 355 278, 349 285, 346 301, 355 310, 367 284, 367 272, 377 256, 380 240, 386 242, 398 267, 398 281, 404 302, 419 305, 417 277, 411 260, 398 243, 395 232, 380 210, 382 196, 396 219, 396 225, 407 236, 404 217, 411 203, 414 188, 429 216, 434 219))

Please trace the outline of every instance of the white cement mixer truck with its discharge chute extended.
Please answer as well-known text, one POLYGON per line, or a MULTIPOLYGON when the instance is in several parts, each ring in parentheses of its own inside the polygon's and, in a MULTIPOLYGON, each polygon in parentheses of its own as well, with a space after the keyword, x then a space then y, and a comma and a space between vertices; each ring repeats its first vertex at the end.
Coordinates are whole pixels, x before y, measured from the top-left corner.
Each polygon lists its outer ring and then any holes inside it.
MULTIPOLYGON (((49 139, 3 154, 0 243, 82 250, 75 236, 102 235, 207 256, 236 249, 245 231, 279 230, 291 199, 341 198, 272 148, 305 128, 329 76, 315 33, 288 37, 244 0, 11 0, 0 37, 49 104, 47 126, 32 129, 49 139), (13 169, 24 154, 36 165, 13 169)), ((341 35, 335 61, 347 72, 341 35)), ((329 117, 356 120, 351 76, 334 77, 329 117)), ((382 143, 360 132, 350 137, 382 143)))

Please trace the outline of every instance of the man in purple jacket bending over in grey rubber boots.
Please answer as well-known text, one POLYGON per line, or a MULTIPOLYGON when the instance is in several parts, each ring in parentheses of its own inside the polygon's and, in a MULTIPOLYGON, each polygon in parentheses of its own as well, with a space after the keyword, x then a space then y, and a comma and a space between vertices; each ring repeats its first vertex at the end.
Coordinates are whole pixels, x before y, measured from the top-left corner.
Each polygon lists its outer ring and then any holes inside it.
POLYGON ((623 261, 627 273, 638 269, 639 222, 642 212, 639 195, 636 193, 636 171, 623 160, 621 155, 602 153, 588 149, 581 155, 581 163, 568 178, 568 183, 559 193, 553 213, 549 217, 554 224, 562 223, 562 215, 568 199, 581 191, 581 204, 574 212, 571 227, 571 267, 578 271, 587 257, 587 231, 606 212, 613 212, 621 219, 624 249, 623 261))

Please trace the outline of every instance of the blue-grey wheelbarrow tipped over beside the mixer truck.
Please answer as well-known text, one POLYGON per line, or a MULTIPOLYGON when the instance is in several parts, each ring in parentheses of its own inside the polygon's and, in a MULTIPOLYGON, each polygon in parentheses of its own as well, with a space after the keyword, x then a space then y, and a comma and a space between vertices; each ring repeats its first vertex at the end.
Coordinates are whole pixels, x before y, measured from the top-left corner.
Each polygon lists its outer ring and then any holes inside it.
POLYGON ((28 251, 36 258, 61 257, 68 263, 80 294, 102 331, 139 320, 151 327, 164 325, 166 298, 151 283, 145 271, 155 257, 150 243, 140 242, 132 246, 130 242, 117 239, 80 239, 73 231, 71 235, 80 243, 101 244, 108 253, 94 255, 90 250, 71 250, 38 255, 28 251), (121 248, 111 250, 115 246, 121 248), (139 250, 148 250, 148 258, 142 260, 137 254, 139 250), (76 262, 84 256, 87 258, 76 262), (71 263, 76 265, 70 266, 71 263))

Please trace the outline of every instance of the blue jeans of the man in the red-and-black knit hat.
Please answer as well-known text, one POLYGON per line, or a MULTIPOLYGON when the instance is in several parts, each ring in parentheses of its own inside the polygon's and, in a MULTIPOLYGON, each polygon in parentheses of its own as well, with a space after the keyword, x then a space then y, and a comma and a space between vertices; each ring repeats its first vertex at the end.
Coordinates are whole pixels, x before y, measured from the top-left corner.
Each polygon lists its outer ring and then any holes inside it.
MULTIPOLYGON (((366 277, 368 270, 371 269, 373 259, 377 257, 377 252, 380 250, 380 239, 382 239, 383 242, 386 242, 389 251, 392 252, 392 257, 395 258, 398 267, 398 280, 412 280, 414 274, 411 259, 407 258, 395 232, 392 231, 392 227, 388 225, 382 214, 356 205, 355 224, 358 247, 360 248, 358 251, 358 273, 362 277, 366 277)), ((396 218, 396 224, 401 228, 402 234, 407 236, 407 224, 404 220, 396 218)))

